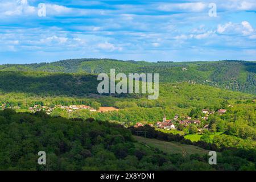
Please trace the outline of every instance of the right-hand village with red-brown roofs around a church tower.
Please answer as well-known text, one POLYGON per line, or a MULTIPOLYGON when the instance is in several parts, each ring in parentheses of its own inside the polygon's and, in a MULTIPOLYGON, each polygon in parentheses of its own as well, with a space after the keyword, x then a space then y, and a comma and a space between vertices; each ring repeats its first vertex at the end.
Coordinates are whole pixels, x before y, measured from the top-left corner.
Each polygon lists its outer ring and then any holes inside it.
MULTIPOLYGON (((226 111, 227 111, 226 109, 219 109, 217 112, 218 112, 218 114, 224 114, 224 113, 226 113, 226 111)), ((208 116, 210 114, 215 113, 215 111, 210 111, 208 109, 203 109, 203 110, 201 110, 201 112, 204 114, 204 116, 201 119, 204 119, 204 120, 207 120, 208 116)), ((164 115, 163 121, 158 121, 155 123, 155 125, 150 124, 149 126, 156 127, 158 129, 163 129, 163 130, 177 130, 177 125, 188 127, 191 124, 198 126, 198 125, 200 125, 200 123, 201 123, 201 121, 199 119, 192 119, 189 116, 180 118, 179 115, 175 115, 175 117, 173 119, 166 119, 166 115, 164 115)), ((138 127, 142 127, 144 125, 146 125, 146 123, 138 122, 138 123, 136 123, 136 125, 134 125, 134 127, 138 128, 138 127)), ((204 125, 203 128, 198 129, 198 132, 202 133, 203 129, 208 129, 208 127, 209 127, 209 125, 204 125)))

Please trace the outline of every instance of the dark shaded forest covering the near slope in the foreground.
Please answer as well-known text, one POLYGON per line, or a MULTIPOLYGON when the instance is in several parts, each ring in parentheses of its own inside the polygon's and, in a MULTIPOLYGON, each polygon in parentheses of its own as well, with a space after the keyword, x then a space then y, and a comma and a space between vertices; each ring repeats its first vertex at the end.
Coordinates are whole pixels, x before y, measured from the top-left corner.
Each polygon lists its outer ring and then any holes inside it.
POLYGON ((222 148, 218 164, 210 166, 207 155, 184 158, 148 148, 125 127, 92 118, 6 109, 0 111, 0 131, 1 170, 253 170, 256 164, 255 149, 222 148), (37 163, 39 151, 47 154, 46 166, 37 163))

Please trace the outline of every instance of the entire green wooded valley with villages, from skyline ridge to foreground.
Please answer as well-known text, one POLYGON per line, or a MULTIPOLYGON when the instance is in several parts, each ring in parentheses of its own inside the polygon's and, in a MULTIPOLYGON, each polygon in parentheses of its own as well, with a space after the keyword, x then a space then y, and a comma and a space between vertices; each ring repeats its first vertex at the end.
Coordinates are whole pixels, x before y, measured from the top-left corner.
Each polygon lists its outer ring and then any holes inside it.
MULTIPOLYGON (((50 169, 251 168, 255 158, 250 155, 256 148, 254 64, 82 59, 0 65, 0 125, 5 138, 0 144, 7 147, 6 142, 18 132, 22 132, 18 138, 27 136, 18 145, 20 150, 33 141, 31 152, 16 157, 8 153, 2 161, 10 161, 8 167, 27 169, 22 158, 33 156, 39 145, 51 151, 51 160, 70 164, 51 164, 50 169), (229 70, 233 66, 239 70, 229 70), (126 74, 159 72, 159 98, 148 100, 147 93, 99 94, 97 73, 109 74, 108 69, 113 67, 126 74), (9 131, 11 126, 14 129, 9 131), (39 131, 41 127, 43 131, 39 131), (49 138, 49 133, 55 136, 49 138), (39 144, 32 139, 35 136, 44 142, 39 144), (221 154, 216 167, 208 164, 210 150, 221 154), (240 166, 233 164, 235 159, 227 159, 230 153, 241 160, 240 166), (76 161, 75 166, 68 156, 76 161), (138 161, 140 166, 135 165, 138 161)), ((14 146, 7 151, 15 150, 14 146)))

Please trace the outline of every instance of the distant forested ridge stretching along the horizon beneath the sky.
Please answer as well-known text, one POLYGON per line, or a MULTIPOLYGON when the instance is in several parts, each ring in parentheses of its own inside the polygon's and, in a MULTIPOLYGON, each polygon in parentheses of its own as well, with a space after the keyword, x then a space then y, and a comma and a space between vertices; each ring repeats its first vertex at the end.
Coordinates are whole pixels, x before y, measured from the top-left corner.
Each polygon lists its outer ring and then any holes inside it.
POLYGON ((0 71, 64 73, 159 73, 162 82, 192 82, 247 93, 256 93, 256 61, 161 62, 113 59, 73 59, 40 64, 0 65, 0 71))

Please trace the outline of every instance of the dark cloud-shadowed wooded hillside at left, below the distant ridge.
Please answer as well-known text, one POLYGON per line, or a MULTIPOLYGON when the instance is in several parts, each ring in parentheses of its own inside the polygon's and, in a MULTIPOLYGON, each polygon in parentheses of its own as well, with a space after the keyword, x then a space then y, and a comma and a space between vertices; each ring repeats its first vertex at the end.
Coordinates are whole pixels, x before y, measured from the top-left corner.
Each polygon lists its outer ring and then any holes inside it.
POLYGON ((97 76, 86 73, 0 72, 3 93, 34 96, 85 96, 97 92, 97 76))

